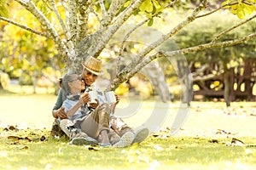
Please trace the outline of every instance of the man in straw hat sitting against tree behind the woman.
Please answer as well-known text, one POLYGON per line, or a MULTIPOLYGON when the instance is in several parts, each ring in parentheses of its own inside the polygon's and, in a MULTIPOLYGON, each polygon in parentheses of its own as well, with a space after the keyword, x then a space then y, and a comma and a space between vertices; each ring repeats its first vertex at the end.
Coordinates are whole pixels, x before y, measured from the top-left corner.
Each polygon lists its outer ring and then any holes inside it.
MULTIPOLYGON (((102 61, 100 59, 96 59, 94 57, 89 57, 88 59, 86 59, 83 63, 82 63, 83 67, 84 67, 84 71, 81 75, 82 80, 84 81, 84 85, 85 85, 85 92, 89 92, 91 90, 93 90, 93 88, 95 87, 95 82, 96 82, 96 78, 97 76, 100 74, 101 70, 102 70, 102 61)), ((90 104, 90 109, 94 110, 99 104, 102 104, 105 101, 105 97, 103 95, 103 93, 99 90, 99 89, 95 89, 97 92, 97 102, 94 104, 90 104)), ((61 105, 63 103, 63 100, 67 98, 65 95, 63 95, 60 93, 58 95, 58 99, 55 103, 55 107, 53 109, 53 116, 55 118, 60 118, 60 119, 67 119, 67 115, 65 113, 65 111, 61 108, 61 105)), ((122 141, 122 137, 125 135, 125 133, 134 133, 133 129, 131 127, 129 127, 125 122, 123 122, 119 117, 113 116, 114 113, 114 109, 115 106, 119 103, 119 97, 117 95, 115 95, 116 98, 116 102, 111 105, 111 116, 110 116, 110 126, 113 128, 115 133, 118 133, 119 136, 121 137, 120 141, 119 141, 119 145, 118 147, 123 147, 128 145, 127 144, 127 139, 124 141, 122 141)), ((84 144, 88 144, 86 143, 86 139, 88 139, 86 137, 86 134, 84 133, 72 133, 70 131, 67 131, 67 127, 69 126, 68 122, 62 122, 61 123, 61 129, 67 133, 67 135, 71 138, 80 138, 83 137, 84 138, 84 144), (75 134, 75 135, 73 135, 75 134)), ((142 142, 144 139, 146 139, 148 136, 148 128, 143 128, 137 131, 137 133, 134 133, 134 139, 132 139, 131 144, 133 143, 140 143, 142 142)), ((109 133, 109 138, 111 141, 111 138, 113 140, 113 142, 116 142, 116 138, 115 135, 113 134, 113 132, 109 133)), ((90 139, 88 139, 90 140, 90 139)), ((74 140, 76 141, 76 140, 74 140)), ((89 142, 90 143, 90 142, 89 142)), ((129 143, 129 142, 128 142, 129 143)))

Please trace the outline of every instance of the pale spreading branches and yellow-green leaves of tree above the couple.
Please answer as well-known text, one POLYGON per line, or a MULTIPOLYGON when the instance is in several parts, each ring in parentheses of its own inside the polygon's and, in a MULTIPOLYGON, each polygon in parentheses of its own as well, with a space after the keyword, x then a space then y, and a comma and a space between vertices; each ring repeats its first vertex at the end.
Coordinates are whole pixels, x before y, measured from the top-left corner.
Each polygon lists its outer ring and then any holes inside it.
MULTIPOLYGON (((184 1, 183 1, 184 2, 184 1)), ((156 20, 170 12, 171 9, 177 10, 183 6, 177 0, 173 1, 156 1, 156 0, 90 0, 90 1, 32 1, 32 0, 15 0, 4 3, 1 0, 1 16, 0 20, 4 20, 15 26, 19 26, 26 31, 31 31, 47 39, 53 40, 55 48, 58 49, 60 58, 64 59, 66 68, 78 68, 82 60, 91 55, 94 57, 102 57, 102 52, 108 47, 117 31, 127 23, 132 23, 134 26, 126 30, 123 40, 118 46, 117 69, 116 76, 109 86, 109 89, 118 88, 122 82, 129 80, 138 71, 141 71, 145 65, 151 63, 152 60, 160 57, 174 57, 180 54, 189 54, 195 51, 205 50, 207 48, 220 48, 232 46, 237 43, 246 42, 256 37, 255 32, 248 32, 246 36, 232 38, 229 41, 221 41, 219 38, 212 37, 212 42, 204 42, 195 47, 175 49, 172 51, 155 50, 167 39, 174 37, 178 32, 182 31, 190 23, 201 17, 207 17, 219 9, 231 8, 231 12, 236 14, 240 19, 247 14, 252 14, 255 11, 255 0, 227 0, 222 4, 216 4, 217 8, 207 8, 208 1, 203 0, 201 3, 192 1, 189 6, 188 16, 181 19, 176 26, 170 26, 165 33, 154 39, 147 46, 137 50, 135 57, 131 62, 126 64, 121 70, 121 56, 123 56, 126 48, 128 37, 140 29, 144 24, 153 26, 156 20), (23 8, 26 8, 28 14, 32 14, 34 20, 39 23, 39 28, 36 30, 33 26, 26 26, 21 22, 15 21, 14 15, 9 15, 6 8, 11 8, 19 3, 23 8), (193 4, 192 4, 193 3, 193 4), (7 6, 9 4, 9 6, 7 6), (194 6, 195 5, 195 6, 194 6), (177 7, 177 8, 176 8, 177 7), (209 11, 212 10, 212 11, 209 11), (132 22, 134 14, 141 17, 141 20, 132 22), (90 25, 93 25, 90 27, 90 25)), ((212 3, 211 3, 212 4, 212 3)), ((215 3, 214 3, 215 4, 215 3)), ((211 6, 212 7, 212 6, 211 6)), ((173 11, 173 14, 175 14, 173 11)), ((242 23, 246 24, 247 22, 242 23)), ((159 23, 158 23, 159 24, 159 23)), ((160 27, 160 26, 159 26, 160 27)), ((228 31, 220 31, 220 35, 228 31)), ((155 65, 157 66, 157 65, 155 65)), ((162 81, 164 83, 164 79, 162 81)))

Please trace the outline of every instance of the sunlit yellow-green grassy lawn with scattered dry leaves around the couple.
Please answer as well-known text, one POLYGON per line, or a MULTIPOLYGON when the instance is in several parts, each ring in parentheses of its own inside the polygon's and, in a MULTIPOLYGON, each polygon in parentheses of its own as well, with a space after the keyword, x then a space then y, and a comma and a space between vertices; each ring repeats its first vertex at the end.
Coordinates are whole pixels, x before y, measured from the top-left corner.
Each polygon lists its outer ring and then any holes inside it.
MULTIPOLYGON (((54 95, 0 94, 0 169, 255 169, 256 103, 193 102, 188 120, 173 136, 169 128, 179 107, 169 105, 166 121, 142 144, 128 148, 75 146, 49 136, 54 95), (10 130, 13 125, 19 130, 10 130), (19 137, 20 139, 16 139, 19 137), (46 139, 43 139, 43 138, 46 139), (236 138, 245 144, 230 145, 236 138), (29 141, 32 140, 32 141, 29 141), (42 140, 42 141, 41 141, 42 140), (249 146, 250 145, 250 146, 249 146)), ((140 103, 125 118, 137 127, 162 104, 124 99, 119 109, 140 103)), ((131 111, 131 110, 130 110, 131 111)))

